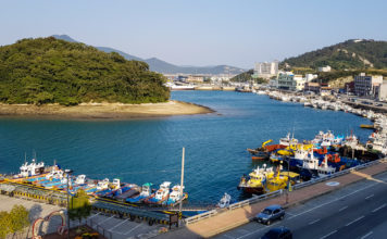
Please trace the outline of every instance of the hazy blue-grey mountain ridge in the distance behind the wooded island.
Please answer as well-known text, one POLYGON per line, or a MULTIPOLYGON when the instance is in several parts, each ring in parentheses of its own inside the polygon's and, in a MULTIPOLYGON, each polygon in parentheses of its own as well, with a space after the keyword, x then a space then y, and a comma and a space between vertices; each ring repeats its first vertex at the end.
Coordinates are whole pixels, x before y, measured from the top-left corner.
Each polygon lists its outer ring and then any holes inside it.
MULTIPOLYGON (((71 42, 78 42, 71 38, 67 35, 52 35, 57 39, 62 39, 71 42)), ((122 56, 124 56, 127 60, 136 60, 136 61, 143 61, 147 62, 149 65, 149 68, 153 72, 159 72, 159 73, 164 73, 164 74, 176 74, 176 73, 182 73, 182 74, 240 74, 245 72, 245 70, 235 67, 235 66, 229 66, 229 65, 215 65, 215 66, 179 66, 179 65, 174 65, 171 63, 167 63, 165 61, 162 61, 157 58, 151 58, 151 59, 141 59, 128 53, 125 53, 123 51, 113 49, 113 48, 108 48, 108 47, 96 47, 97 49, 104 51, 104 52, 117 52, 122 56)))

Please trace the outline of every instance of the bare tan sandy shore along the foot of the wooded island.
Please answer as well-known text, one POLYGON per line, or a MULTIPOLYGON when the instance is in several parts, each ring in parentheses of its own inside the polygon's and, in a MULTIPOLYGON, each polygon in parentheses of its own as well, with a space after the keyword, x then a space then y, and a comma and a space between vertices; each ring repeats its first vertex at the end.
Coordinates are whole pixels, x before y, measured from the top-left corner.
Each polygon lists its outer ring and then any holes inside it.
POLYGON ((0 118, 126 121, 209 114, 215 111, 203 105, 170 100, 163 103, 82 103, 75 106, 59 104, 0 104, 0 118))

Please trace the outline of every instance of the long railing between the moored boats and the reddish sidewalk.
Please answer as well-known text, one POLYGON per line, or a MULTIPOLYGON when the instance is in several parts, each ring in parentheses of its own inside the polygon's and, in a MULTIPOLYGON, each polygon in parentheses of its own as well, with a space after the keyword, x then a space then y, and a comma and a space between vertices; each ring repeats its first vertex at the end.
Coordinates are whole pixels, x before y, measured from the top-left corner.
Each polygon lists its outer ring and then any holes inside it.
MULTIPOLYGON (((332 178, 339 177, 339 176, 345 175, 345 174, 349 174, 352 171, 358 171, 358 169, 361 169, 361 168, 364 168, 364 167, 369 167, 369 166, 378 164, 380 162, 386 162, 386 161, 387 161, 387 159, 380 159, 380 160, 375 160, 375 161, 372 161, 372 162, 369 162, 369 163, 365 163, 365 164, 360 164, 358 166, 354 166, 354 167, 351 167, 351 168, 347 168, 347 169, 337 172, 335 174, 332 174, 332 175, 328 175, 328 176, 325 176, 325 177, 321 177, 321 178, 316 178, 316 179, 312 179, 312 180, 309 180, 309 181, 297 184, 297 185, 292 186, 292 189, 297 190, 297 189, 300 189, 300 188, 303 188, 303 187, 307 187, 307 186, 310 186, 310 185, 314 185, 314 184, 317 184, 317 183, 326 181, 326 180, 329 180, 332 178)), ((246 206, 246 205, 251 205, 251 204, 260 202, 260 201, 264 201, 264 200, 267 200, 267 199, 272 199, 272 198, 278 197, 278 196, 280 196, 283 193, 284 193, 283 189, 277 190, 277 191, 273 191, 273 192, 269 192, 269 193, 265 193, 265 194, 262 194, 262 196, 253 197, 251 199, 247 199, 247 200, 244 200, 244 201, 240 201, 240 202, 233 203, 233 204, 230 204, 229 206, 227 206, 225 209, 216 209, 216 210, 209 211, 207 213, 202 213, 202 214, 199 214, 199 215, 196 215, 196 216, 188 217, 184 222, 185 222, 186 225, 192 224, 192 223, 197 223, 197 222, 199 222, 201 219, 205 219, 205 218, 215 216, 216 214, 219 214, 221 212, 224 212, 224 211, 227 211, 227 210, 229 210, 229 211, 230 210, 236 210, 236 209, 239 209, 239 207, 242 207, 242 206, 246 206)))

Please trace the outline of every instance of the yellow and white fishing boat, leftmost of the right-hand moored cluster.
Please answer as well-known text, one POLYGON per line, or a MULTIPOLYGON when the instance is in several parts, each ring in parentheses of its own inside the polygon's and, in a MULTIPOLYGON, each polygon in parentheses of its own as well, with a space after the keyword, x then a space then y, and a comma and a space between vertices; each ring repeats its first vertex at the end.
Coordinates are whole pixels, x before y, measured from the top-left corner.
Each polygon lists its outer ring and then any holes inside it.
POLYGON ((245 175, 240 178, 238 189, 244 190, 247 193, 262 194, 264 192, 264 184, 267 178, 274 176, 273 167, 266 167, 266 164, 263 164, 263 167, 259 166, 249 174, 249 178, 245 175))

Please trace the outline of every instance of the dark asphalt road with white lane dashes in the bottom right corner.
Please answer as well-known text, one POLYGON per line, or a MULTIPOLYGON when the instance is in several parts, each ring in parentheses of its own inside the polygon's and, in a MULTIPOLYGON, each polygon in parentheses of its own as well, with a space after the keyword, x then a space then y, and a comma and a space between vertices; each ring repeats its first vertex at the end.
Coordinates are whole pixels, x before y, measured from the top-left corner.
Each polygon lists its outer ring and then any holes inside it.
POLYGON ((249 223, 215 238, 260 238, 286 226, 294 238, 387 238, 387 173, 287 210, 271 226, 249 223))

